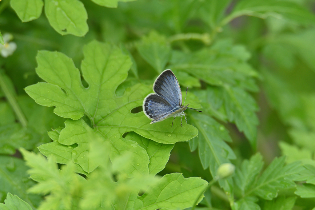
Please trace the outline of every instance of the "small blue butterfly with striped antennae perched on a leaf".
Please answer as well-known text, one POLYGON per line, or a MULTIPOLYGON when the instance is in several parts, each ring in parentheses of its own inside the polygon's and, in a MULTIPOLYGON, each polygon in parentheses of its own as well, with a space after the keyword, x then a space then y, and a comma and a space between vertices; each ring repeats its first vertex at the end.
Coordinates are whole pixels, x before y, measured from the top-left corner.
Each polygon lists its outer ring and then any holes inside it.
POLYGON ((184 105, 181 105, 183 99, 179 83, 174 73, 170 69, 167 69, 164 70, 154 81, 153 91, 155 93, 147 95, 146 98, 143 100, 142 105, 142 109, 145 115, 148 118, 152 119, 150 124, 163 121, 169 117, 174 117, 174 122, 177 116, 181 116, 180 124, 181 127, 183 127, 183 116, 185 116, 185 120, 187 122, 184 111, 187 108, 190 108, 188 107, 189 104, 185 106, 188 88, 186 89, 184 105))

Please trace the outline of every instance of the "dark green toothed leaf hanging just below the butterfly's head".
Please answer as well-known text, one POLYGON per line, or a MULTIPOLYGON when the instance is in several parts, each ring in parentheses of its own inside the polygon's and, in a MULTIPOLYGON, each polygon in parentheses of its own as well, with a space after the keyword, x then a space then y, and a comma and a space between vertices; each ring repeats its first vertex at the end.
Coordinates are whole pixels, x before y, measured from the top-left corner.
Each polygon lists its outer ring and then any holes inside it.
POLYGON ((236 158, 233 150, 224 142, 231 142, 232 139, 226 128, 209 116, 192 113, 188 120, 199 130, 198 138, 195 137, 189 143, 191 149, 196 147, 193 144, 199 146, 198 152, 203 168, 209 167, 212 176, 215 177, 222 163, 236 158))

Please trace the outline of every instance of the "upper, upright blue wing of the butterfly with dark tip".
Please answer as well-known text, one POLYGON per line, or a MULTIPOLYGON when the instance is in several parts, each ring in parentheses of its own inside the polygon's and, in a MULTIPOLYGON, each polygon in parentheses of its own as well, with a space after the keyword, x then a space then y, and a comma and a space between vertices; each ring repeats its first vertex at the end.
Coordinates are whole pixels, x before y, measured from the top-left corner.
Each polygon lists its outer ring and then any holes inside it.
POLYGON ((182 103, 179 83, 174 73, 167 69, 157 77, 153 84, 153 91, 165 99, 173 108, 182 103))

